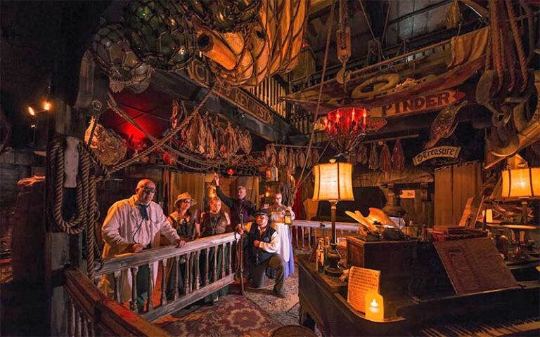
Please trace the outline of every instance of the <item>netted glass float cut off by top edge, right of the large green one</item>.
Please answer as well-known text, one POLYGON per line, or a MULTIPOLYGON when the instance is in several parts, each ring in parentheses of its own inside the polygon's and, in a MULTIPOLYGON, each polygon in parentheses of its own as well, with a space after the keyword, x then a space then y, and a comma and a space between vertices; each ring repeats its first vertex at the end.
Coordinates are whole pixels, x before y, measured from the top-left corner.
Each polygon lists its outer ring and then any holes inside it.
POLYGON ((239 32, 254 22, 261 0, 188 0, 200 22, 218 32, 239 32))

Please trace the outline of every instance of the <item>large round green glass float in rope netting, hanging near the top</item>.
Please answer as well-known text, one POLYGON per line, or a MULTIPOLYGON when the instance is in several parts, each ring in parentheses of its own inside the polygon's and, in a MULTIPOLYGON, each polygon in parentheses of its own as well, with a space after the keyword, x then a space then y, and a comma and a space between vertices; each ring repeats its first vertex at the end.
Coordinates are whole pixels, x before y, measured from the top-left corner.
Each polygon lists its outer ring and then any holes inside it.
POLYGON ((195 30, 181 1, 129 1, 124 21, 131 47, 153 67, 178 71, 191 60, 195 30))

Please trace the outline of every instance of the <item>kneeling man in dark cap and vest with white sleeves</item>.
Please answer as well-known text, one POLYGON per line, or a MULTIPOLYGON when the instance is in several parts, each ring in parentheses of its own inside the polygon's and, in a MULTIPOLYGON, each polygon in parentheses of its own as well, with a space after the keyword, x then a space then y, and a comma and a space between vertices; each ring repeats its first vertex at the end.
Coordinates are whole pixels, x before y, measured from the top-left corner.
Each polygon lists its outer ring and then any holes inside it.
POLYGON ((266 281, 266 268, 276 270, 276 284, 274 295, 285 298, 283 293, 283 272, 285 262, 276 253, 280 247, 279 235, 269 225, 266 209, 259 209, 255 213, 255 222, 247 223, 245 229, 238 227, 238 233, 244 234, 244 248, 250 268, 253 286, 260 288, 266 281))

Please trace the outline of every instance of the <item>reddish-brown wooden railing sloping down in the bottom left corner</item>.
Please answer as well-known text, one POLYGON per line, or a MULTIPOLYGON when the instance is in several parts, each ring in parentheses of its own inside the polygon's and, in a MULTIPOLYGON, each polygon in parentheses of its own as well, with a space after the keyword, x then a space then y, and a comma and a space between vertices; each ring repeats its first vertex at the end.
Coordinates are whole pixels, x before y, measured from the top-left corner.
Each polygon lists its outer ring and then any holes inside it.
POLYGON ((99 291, 77 269, 65 270, 69 336, 171 336, 99 291))

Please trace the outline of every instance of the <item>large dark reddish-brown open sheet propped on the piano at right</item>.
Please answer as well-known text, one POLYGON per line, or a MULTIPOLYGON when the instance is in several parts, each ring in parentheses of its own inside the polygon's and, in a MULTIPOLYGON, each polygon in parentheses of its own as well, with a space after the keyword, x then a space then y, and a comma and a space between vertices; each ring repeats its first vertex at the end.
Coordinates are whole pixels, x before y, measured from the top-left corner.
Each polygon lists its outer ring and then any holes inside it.
POLYGON ((433 242, 458 295, 518 286, 495 244, 487 237, 433 242))

